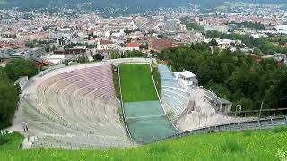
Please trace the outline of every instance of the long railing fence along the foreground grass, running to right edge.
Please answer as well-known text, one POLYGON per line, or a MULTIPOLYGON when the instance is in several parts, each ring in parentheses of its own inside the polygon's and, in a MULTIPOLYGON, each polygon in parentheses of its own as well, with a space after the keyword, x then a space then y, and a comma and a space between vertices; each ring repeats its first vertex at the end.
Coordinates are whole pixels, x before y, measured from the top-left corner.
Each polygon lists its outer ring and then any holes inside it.
MULTIPOLYGON (((174 138, 180 138, 188 135, 202 134, 202 133, 211 133, 211 132, 222 132, 222 131, 246 131, 246 130, 262 130, 262 129, 271 129, 277 126, 287 125, 287 116, 282 117, 270 117, 265 119, 258 119, 255 121, 247 121, 241 123, 228 123, 221 124, 206 128, 200 128, 192 131, 186 131, 172 135, 170 137, 161 139, 161 140, 170 140, 174 138)), ((155 140, 155 142, 161 141, 155 140)))

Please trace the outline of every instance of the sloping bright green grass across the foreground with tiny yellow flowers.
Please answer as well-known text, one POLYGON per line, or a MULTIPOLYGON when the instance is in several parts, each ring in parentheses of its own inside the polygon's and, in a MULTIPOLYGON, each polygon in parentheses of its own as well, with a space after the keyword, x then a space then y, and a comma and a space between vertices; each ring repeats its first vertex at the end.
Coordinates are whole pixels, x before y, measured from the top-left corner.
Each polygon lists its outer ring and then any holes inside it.
POLYGON ((287 130, 195 135, 139 148, 0 150, 1 160, 258 160, 286 157, 287 130), (285 155, 284 155, 285 153, 285 155))

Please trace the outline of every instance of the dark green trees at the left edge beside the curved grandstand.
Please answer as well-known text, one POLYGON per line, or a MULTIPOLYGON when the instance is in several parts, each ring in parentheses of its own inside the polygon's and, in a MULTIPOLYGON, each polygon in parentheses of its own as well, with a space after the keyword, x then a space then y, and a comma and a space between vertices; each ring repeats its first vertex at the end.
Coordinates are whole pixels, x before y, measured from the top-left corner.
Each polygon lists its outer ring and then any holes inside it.
POLYGON ((20 89, 13 82, 20 76, 33 76, 37 68, 30 60, 17 59, 0 67, 0 129, 11 125, 18 108, 20 89))

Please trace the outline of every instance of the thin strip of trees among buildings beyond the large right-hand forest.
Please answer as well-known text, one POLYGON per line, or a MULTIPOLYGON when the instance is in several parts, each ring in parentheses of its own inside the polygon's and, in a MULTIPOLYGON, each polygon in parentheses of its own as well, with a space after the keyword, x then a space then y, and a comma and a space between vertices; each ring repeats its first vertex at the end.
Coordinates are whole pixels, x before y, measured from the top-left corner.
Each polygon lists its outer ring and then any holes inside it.
POLYGON ((247 47, 255 48, 257 54, 273 55, 276 53, 287 53, 287 47, 274 46, 274 43, 267 38, 252 38, 248 35, 239 35, 236 33, 227 34, 218 31, 207 31, 207 38, 226 38, 233 40, 241 40, 247 47))

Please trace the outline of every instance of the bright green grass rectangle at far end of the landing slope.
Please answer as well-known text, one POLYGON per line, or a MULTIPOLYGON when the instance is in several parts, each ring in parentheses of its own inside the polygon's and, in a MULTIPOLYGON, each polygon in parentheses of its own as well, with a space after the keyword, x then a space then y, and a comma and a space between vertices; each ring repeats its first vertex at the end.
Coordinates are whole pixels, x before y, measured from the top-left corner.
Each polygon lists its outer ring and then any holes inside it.
POLYGON ((119 65, 124 102, 158 100, 149 64, 119 65))

